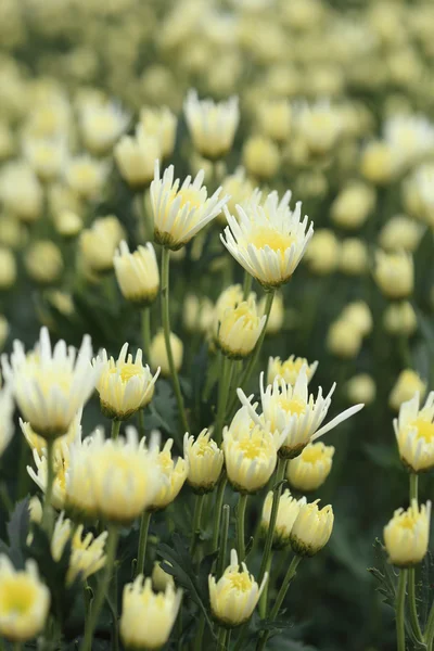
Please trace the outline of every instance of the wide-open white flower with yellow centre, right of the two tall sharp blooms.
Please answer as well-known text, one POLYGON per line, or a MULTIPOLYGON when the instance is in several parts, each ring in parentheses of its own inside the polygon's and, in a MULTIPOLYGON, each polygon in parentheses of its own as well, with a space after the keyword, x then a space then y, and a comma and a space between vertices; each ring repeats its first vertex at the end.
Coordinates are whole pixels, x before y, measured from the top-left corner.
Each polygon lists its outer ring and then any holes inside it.
POLYGON ((225 209, 228 225, 220 239, 235 260, 265 288, 278 288, 288 282, 302 259, 314 234, 308 218, 301 221, 302 204, 291 212, 286 192, 281 202, 271 193, 264 206, 252 202, 237 206, 239 217, 225 209), (282 202, 283 206, 282 206, 282 202))

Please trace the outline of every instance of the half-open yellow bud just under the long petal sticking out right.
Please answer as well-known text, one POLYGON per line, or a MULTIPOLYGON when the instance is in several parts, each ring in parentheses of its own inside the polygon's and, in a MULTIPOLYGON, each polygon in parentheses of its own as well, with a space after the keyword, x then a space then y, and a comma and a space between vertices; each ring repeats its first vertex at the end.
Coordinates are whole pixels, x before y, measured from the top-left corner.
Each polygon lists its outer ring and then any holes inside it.
POLYGON ((288 462, 286 478, 291 486, 303 493, 317 490, 332 469, 334 447, 321 441, 310 443, 296 459, 288 462))

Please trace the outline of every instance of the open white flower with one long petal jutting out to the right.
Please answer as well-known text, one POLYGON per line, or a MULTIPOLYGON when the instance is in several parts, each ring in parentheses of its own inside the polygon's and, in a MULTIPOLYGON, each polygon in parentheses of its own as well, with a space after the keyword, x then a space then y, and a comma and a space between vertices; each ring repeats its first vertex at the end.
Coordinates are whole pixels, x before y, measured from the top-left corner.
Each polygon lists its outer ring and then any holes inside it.
POLYGON ((350 418, 363 407, 355 405, 346 409, 327 425, 322 425, 329 411, 332 395, 336 387, 333 384, 324 397, 319 387, 315 398, 308 392, 306 367, 303 366, 294 385, 286 384, 282 379, 277 379, 267 388, 264 387, 264 373, 260 374, 260 404, 263 413, 256 413, 257 405, 252 405, 253 396, 246 397, 244 392, 237 391, 241 403, 248 409, 248 413, 259 426, 269 426, 271 432, 278 432, 284 441, 279 449, 279 455, 288 459, 297 457, 306 445, 319 438, 344 420, 350 418))

